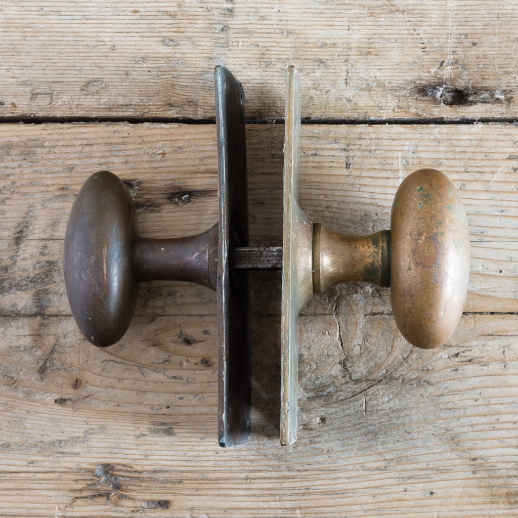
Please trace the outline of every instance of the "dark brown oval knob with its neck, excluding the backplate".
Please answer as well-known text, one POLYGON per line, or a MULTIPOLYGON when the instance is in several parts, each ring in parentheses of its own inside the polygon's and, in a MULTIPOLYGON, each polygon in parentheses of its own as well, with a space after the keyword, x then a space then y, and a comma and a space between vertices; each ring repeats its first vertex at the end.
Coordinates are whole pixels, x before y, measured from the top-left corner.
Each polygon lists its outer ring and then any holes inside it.
POLYGON ((98 347, 119 341, 142 281, 191 281, 215 290, 217 250, 217 225, 186 238, 140 237, 122 180, 96 172, 74 200, 63 254, 68 301, 81 333, 98 347))

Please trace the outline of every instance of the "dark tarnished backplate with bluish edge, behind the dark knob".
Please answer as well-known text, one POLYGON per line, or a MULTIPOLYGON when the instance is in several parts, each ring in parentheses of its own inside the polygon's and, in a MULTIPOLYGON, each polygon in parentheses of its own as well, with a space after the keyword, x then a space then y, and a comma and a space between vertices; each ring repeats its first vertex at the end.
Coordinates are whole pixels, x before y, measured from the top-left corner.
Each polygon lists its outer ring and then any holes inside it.
POLYGON ((250 439, 251 346, 248 271, 232 268, 233 247, 248 246, 244 93, 224 67, 214 71, 219 163, 218 435, 221 446, 250 439))

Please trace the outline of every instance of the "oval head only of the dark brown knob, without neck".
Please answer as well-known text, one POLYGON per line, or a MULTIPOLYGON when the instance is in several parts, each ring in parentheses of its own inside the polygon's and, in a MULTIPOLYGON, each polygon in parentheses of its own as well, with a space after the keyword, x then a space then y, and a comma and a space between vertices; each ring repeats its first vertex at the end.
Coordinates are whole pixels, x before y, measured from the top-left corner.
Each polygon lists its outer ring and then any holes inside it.
POLYGON ((124 183, 109 171, 96 172, 74 200, 63 254, 70 309, 95 346, 119 341, 133 317, 135 239, 137 217, 124 183))

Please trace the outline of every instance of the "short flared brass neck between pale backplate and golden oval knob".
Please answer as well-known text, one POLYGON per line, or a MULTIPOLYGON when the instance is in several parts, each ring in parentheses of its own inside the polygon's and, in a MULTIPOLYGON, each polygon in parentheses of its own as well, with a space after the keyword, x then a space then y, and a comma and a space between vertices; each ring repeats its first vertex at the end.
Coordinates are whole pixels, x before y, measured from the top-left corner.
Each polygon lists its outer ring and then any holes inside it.
POLYGON ((369 236, 344 236, 313 224, 313 293, 341 282, 365 281, 390 286, 388 230, 369 236))

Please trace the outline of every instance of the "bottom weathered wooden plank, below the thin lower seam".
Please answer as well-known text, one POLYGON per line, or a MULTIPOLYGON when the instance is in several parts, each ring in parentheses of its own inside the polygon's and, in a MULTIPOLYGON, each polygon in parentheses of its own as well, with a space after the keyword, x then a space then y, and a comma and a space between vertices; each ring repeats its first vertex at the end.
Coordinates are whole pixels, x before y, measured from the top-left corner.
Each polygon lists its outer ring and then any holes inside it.
POLYGON ((348 311, 301 319, 292 450, 278 445, 277 317, 254 320, 251 443, 227 450, 214 440, 216 369, 190 367, 215 358, 207 342, 180 353, 182 368, 174 343, 146 346, 164 318, 109 350, 73 336, 70 318, 2 318, 0 512, 513 516, 515 316, 465 316, 461 338, 434 353, 383 315, 364 323, 365 341, 340 346, 326 329, 354 327, 348 311))

